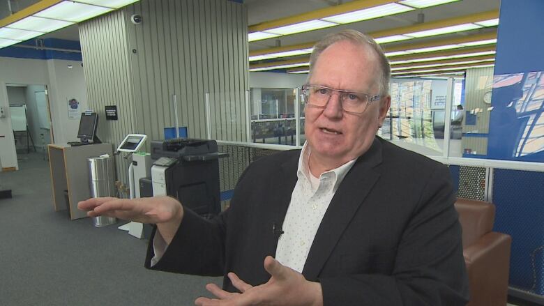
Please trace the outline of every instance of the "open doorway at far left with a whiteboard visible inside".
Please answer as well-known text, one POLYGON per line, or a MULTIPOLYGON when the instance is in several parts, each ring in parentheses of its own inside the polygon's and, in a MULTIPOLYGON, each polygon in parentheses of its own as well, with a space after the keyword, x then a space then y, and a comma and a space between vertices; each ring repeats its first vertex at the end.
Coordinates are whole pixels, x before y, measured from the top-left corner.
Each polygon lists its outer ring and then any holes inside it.
POLYGON ((19 169, 47 167, 54 142, 47 86, 6 84, 19 169))

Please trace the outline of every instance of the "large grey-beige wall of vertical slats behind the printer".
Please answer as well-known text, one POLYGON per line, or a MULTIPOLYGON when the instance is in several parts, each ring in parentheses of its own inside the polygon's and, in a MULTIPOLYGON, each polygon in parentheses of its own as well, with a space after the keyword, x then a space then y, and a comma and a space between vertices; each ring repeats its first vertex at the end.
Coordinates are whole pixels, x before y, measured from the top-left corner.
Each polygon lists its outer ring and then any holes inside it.
MULTIPOLYGON (((80 24, 89 107, 100 115, 98 135, 114 146, 130 132, 164 139, 179 125, 206 138, 205 95, 211 95, 211 137, 245 141, 248 90, 248 22, 245 7, 227 0, 142 0, 80 24), (141 15, 142 23, 130 22, 141 15), (118 121, 105 121, 117 105, 118 121)), ((128 162, 116 158, 128 183, 128 162)))

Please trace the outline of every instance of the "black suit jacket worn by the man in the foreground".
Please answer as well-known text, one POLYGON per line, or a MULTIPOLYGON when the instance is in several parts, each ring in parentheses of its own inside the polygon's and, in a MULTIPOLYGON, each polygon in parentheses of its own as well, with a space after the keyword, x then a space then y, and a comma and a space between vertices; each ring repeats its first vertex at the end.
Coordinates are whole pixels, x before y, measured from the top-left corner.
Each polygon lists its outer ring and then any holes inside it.
MULTIPOLYGON (((214 220, 186 211, 156 270, 234 272, 253 285, 296 184, 300 151, 253 162, 231 206, 214 220)), ((322 284, 324 305, 465 305, 468 280, 447 167, 377 137, 329 205, 303 268, 322 284)), ((153 257, 150 247, 146 267, 153 257)), ((225 277, 224 289, 236 291, 225 277)))

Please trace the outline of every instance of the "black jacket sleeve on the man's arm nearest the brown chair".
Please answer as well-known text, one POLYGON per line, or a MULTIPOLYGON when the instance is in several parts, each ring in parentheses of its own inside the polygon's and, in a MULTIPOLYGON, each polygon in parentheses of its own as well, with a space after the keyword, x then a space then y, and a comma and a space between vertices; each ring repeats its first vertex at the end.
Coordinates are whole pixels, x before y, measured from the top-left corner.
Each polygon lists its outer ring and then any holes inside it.
POLYGON ((324 305, 467 304, 461 227, 449 177, 444 166, 430 176, 403 231, 391 275, 319 278, 324 305))

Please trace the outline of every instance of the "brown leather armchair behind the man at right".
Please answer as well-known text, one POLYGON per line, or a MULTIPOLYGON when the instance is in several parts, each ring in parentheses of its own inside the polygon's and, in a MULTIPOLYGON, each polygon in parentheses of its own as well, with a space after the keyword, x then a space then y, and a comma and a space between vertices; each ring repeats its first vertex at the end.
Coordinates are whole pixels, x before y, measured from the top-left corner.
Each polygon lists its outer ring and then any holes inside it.
POLYGON ((458 198, 464 262, 469 275, 467 306, 504 306, 508 296, 511 236, 492 231, 495 206, 458 198))

